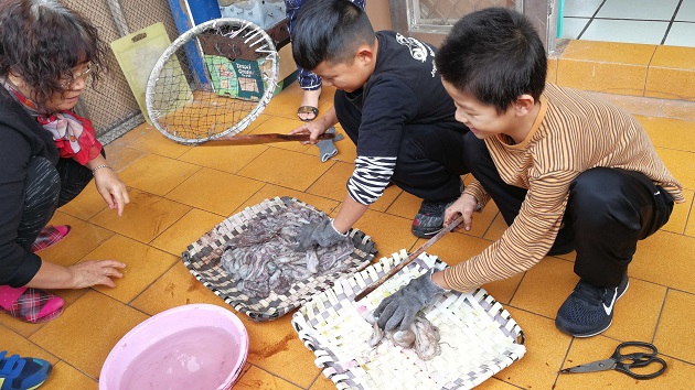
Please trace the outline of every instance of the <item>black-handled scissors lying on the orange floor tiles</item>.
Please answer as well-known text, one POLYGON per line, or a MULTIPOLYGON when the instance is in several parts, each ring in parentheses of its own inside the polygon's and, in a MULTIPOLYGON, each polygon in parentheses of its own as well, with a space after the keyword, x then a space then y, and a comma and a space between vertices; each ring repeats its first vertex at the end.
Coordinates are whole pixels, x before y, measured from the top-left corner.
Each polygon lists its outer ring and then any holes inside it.
POLYGON ((622 373, 627 373, 634 379, 652 379, 662 375, 666 370, 666 362, 664 359, 656 356, 657 350, 653 344, 642 343, 642 342, 626 342, 618 345, 613 355, 605 360, 597 360, 592 362, 587 362, 586 365, 580 365, 576 367, 565 368, 560 370, 560 373, 570 373, 570 372, 594 372, 594 371, 603 371, 603 370, 617 370, 622 373), (649 353, 633 353, 633 354, 622 354, 622 349, 627 347, 640 347, 644 349, 649 349, 649 353), (646 367, 651 364, 655 364, 656 366, 661 366, 659 370, 651 373, 637 373, 632 371, 632 368, 637 367, 646 367))

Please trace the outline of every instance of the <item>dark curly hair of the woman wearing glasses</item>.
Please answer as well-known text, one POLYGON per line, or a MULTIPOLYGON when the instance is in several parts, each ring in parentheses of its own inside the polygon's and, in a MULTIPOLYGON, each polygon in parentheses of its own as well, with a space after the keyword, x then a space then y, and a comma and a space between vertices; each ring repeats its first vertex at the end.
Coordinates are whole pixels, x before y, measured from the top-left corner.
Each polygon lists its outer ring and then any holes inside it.
POLYGON ((86 62, 98 79, 105 55, 97 29, 57 1, 0 1, 0 76, 21 76, 38 104, 63 93, 61 78, 71 79, 71 69, 86 62))

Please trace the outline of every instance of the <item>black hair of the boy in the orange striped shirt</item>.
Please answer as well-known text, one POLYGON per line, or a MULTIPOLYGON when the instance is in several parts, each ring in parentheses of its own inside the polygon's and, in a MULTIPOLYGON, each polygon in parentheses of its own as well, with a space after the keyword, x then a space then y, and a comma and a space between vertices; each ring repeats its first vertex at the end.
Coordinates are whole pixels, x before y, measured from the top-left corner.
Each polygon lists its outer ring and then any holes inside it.
POLYGON ((442 79, 498 112, 524 94, 538 100, 545 88, 543 42, 523 14, 506 8, 461 18, 437 52, 436 64, 442 79))

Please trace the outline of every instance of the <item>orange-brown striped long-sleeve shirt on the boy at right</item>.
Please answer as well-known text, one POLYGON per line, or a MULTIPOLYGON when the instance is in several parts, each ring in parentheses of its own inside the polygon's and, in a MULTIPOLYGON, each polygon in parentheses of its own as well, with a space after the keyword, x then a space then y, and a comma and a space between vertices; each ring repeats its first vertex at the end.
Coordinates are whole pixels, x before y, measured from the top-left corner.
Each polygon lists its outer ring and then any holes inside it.
MULTIPOLYGON (((681 184, 656 154, 642 126, 622 109, 589 95, 548 84, 541 110, 523 142, 485 139, 502 180, 528 192, 518 216, 480 254, 445 271, 456 290, 528 270, 546 256, 560 228, 570 183, 597 166, 641 172, 683 203, 681 184)), ((464 191, 484 205, 489 195, 474 181, 464 191)))

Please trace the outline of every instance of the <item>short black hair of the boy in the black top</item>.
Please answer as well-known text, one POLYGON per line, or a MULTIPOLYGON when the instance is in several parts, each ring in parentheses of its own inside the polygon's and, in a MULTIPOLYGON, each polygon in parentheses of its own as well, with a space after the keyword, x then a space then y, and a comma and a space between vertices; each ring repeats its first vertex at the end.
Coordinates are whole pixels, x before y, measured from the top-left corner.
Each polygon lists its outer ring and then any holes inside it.
POLYGON ((357 47, 375 39, 366 12, 351 1, 309 0, 297 15, 292 56, 309 71, 324 61, 352 64, 357 47))

